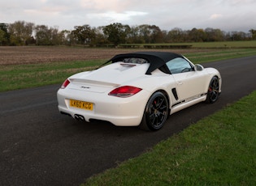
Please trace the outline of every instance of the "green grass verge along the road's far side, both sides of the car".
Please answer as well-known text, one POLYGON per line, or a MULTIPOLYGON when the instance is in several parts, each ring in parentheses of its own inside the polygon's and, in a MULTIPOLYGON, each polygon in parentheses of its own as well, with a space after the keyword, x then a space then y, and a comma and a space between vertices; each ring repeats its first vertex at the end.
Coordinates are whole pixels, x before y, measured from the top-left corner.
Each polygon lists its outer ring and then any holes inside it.
MULTIPOLYGON (((198 52, 182 53, 193 63, 218 61, 228 58, 256 55, 255 49, 200 49, 198 52)), ((28 87, 40 87, 62 83, 67 77, 85 70, 92 70, 107 59, 93 61, 66 61, 28 65, 2 65, 0 69, 0 91, 11 91, 28 87)))

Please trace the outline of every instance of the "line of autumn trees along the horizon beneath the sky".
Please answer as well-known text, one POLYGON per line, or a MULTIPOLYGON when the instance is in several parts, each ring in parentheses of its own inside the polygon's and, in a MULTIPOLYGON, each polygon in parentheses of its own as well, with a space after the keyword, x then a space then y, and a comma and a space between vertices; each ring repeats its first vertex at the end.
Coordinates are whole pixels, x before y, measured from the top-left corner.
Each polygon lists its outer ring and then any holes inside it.
POLYGON ((111 23, 101 27, 88 24, 75 26, 73 30, 36 25, 25 21, 0 23, 0 45, 74 45, 103 46, 112 44, 156 44, 180 42, 209 42, 232 40, 256 40, 256 30, 245 32, 224 32, 219 28, 207 27, 182 30, 175 27, 170 31, 156 25, 129 26, 111 23))

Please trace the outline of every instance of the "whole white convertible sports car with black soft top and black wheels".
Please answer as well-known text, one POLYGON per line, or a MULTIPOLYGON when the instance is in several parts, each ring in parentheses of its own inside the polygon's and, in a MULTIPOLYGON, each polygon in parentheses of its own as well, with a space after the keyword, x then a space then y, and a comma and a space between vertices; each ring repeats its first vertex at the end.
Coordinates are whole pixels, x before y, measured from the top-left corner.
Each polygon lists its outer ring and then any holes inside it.
POLYGON ((202 101, 215 103, 220 92, 214 68, 193 65, 176 53, 139 52, 116 55, 97 70, 72 75, 57 96, 59 112, 76 120, 158 130, 167 116, 202 101))

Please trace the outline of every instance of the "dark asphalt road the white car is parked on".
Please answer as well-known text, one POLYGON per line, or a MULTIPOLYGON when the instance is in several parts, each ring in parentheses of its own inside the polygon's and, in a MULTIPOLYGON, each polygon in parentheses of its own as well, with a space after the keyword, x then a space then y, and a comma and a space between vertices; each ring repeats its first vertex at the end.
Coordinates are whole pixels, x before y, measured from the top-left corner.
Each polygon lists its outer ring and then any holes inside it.
POLYGON ((79 185, 256 90, 256 56, 204 66, 222 74, 218 102, 177 112, 154 133, 60 115, 60 85, 0 93, 0 185, 79 185))

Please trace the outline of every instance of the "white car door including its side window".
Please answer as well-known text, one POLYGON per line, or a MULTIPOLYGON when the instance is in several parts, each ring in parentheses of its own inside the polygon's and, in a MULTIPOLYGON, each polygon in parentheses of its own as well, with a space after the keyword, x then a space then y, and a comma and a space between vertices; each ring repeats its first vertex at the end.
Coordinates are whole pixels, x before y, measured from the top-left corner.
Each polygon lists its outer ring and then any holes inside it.
POLYGON ((176 91, 180 101, 196 99, 204 92, 206 74, 203 71, 193 70, 193 66, 184 58, 176 58, 167 62, 171 75, 176 80, 176 91))

